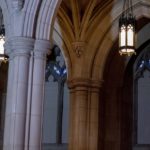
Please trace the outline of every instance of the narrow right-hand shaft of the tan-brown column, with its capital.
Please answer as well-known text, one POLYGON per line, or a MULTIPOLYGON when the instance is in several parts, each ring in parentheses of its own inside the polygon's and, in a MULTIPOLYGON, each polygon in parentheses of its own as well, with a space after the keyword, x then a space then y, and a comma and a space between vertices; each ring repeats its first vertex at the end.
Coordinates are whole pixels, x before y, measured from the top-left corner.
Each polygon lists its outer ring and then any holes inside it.
POLYGON ((100 150, 102 148, 102 84, 103 81, 91 81, 90 99, 88 102, 88 149, 100 150))

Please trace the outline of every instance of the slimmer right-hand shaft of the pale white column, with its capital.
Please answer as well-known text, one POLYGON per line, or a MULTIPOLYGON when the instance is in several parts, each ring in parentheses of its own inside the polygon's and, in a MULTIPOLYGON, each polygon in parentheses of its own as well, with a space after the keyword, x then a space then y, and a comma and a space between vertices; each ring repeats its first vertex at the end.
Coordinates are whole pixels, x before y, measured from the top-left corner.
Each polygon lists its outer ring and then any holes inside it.
POLYGON ((41 150, 45 64, 48 50, 50 50, 49 41, 35 41, 29 150, 41 150))

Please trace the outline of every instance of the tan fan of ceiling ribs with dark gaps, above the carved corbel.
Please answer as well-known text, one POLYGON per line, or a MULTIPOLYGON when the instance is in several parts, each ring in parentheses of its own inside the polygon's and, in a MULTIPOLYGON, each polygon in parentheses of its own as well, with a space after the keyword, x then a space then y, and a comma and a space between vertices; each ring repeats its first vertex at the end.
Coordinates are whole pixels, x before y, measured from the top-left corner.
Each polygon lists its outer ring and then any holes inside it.
POLYGON ((85 41, 93 20, 99 14, 106 16, 110 10, 104 11, 105 8, 116 2, 118 0, 63 0, 57 14, 59 25, 71 41, 85 41))

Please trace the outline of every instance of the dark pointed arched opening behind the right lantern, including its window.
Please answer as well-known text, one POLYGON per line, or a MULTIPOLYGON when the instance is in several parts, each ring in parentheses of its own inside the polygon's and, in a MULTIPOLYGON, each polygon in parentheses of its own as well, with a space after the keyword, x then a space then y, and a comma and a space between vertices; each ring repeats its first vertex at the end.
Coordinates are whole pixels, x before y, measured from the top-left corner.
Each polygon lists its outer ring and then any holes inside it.
MULTIPOLYGON (((144 129, 149 131, 149 128, 147 128, 149 122, 147 123, 147 126, 146 123, 143 124, 144 116, 146 120, 146 116, 148 115, 148 113, 144 114, 143 110, 147 108, 147 111, 149 111, 149 107, 145 107, 146 104, 144 104, 144 101, 147 102, 149 99, 148 95, 147 97, 145 97, 146 94, 144 94, 145 91, 147 91, 148 93, 148 86, 147 90, 144 90, 143 84, 140 84, 139 87, 139 82, 141 82, 140 80, 138 81, 138 89, 140 89, 141 91, 137 91, 137 88, 134 88, 134 86, 137 86, 137 83, 134 79, 134 74, 136 71, 134 70, 134 68, 137 67, 134 66, 135 64, 139 67, 143 65, 140 64, 140 58, 142 58, 140 56, 142 56, 142 53, 145 51, 145 47, 147 47, 147 45, 149 44, 149 35, 147 35, 149 33, 148 23, 149 19, 146 18, 141 18, 138 20, 138 49, 136 56, 132 56, 129 58, 121 57, 117 51, 117 42, 115 42, 111 49, 111 52, 107 57, 104 71, 103 89, 103 147, 105 150, 149 149, 148 143, 144 143, 144 141, 146 140, 145 136, 147 136, 148 139, 150 135, 148 134, 148 132, 144 133, 144 129), (141 104, 138 106, 137 103, 141 104), (142 110, 142 112, 139 112, 139 110, 142 110), (137 121, 137 119, 139 119, 139 121, 137 121), (141 132, 141 134, 137 132, 141 132), (145 137, 145 139, 143 137, 145 137), (143 143, 138 144, 137 139, 143 140, 143 143)), ((146 60, 146 62, 148 63, 149 59, 146 60)), ((146 73, 143 77, 144 79, 145 77, 147 77, 146 73)), ((148 81, 145 82, 148 83, 148 81)))

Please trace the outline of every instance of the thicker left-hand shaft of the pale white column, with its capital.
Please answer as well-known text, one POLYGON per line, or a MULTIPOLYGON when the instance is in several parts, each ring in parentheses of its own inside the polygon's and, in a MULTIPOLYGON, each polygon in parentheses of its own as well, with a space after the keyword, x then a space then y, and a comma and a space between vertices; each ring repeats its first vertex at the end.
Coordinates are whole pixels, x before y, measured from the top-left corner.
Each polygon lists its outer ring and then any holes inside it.
POLYGON ((3 150, 24 150, 30 52, 34 40, 13 37, 9 45, 9 72, 3 150))

